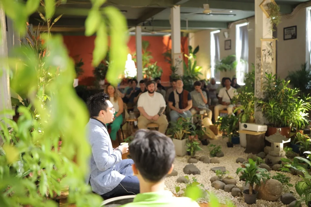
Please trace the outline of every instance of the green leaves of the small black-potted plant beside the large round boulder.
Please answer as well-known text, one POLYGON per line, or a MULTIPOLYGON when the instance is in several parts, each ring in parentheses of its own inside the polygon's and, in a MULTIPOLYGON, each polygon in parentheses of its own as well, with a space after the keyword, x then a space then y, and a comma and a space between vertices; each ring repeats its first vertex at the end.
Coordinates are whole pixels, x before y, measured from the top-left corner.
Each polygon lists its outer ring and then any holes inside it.
POLYGON ((262 173, 267 172, 267 170, 259 168, 252 159, 248 159, 248 162, 249 163, 245 164, 245 168, 238 168, 236 174, 238 176, 239 173, 242 173, 240 179, 245 179, 245 184, 249 183, 249 194, 253 195, 254 183, 260 185, 262 173))

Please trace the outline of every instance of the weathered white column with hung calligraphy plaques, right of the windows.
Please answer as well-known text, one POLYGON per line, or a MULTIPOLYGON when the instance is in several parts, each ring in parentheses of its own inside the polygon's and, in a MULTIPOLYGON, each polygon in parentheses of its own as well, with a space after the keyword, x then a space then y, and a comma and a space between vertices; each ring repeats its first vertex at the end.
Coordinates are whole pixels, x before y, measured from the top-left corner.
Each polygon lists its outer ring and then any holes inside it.
MULTIPOLYGON (((255 97, 257 98, 263 97, 262 86, 265 81, 265 73, 275 74, 276 71, 275 65, 263 63, 261 60, 262 39, 272 39, 272 31, 269 30, 269 19, 259 7, 261 2, 262 0, 255 0, 255 97)), ((276 50, 274 54, 275 52, 276 50)), ((265 124, 262 112, 257 109, 256 104, 255 120, 257 124, 265 124)))

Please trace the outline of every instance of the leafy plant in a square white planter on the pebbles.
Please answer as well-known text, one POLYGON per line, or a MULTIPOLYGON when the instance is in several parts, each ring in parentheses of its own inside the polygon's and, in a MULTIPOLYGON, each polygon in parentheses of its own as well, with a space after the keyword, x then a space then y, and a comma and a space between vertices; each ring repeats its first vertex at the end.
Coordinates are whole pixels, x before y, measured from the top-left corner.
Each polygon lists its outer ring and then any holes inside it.
POLYGON ((167 134, 173 140, 177 156, 185 156, 187 154, 187 137, 191 134, 191 129, 194 128, 195 126, 191 123, 191 118, 177 119, 176 122, 170 122, 167 134))

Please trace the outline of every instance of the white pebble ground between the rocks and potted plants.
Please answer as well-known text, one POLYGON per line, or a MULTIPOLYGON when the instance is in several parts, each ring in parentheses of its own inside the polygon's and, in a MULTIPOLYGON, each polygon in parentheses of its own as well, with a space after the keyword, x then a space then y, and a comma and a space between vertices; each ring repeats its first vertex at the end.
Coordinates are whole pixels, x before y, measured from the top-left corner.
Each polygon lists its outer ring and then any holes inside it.
MULTIPOLYGON (((241 167, 240 163, 236 163, 235 160, 238 157, 242 157, 246 160, 247 156, 249 154, 245 154, 244 150, 245 148, 241 147, 240 145, 234 145, 233 148, 228 148, 226 145, 227 139, 217 139, 217 140, 211 140, 210 144, 215 144, 215 145, 221 145, 221 150, 225 153, 224 157, 218 157, 217 159, 220 160, 220 164, 205 164, 201 161, 198 161, 198 163, 194 164, 200 171, 200 175, 188 175, 188 177, 191 179, 192 177, 197 178, 197 181, 201 184, 204 185, 204 188, 207 191, 210 191, 211 193, 214 193, 220 203, 225 204, 227 200, 231 200, 235 204, 235 206, 240 207, 240 206, 247 206, 247 207, 286 207, 287 205, 282 204, 280 199, 277 202, 271 202, 271 201, 266 201, 266 200, 261 200, 257 199, 256 204, 253 205, 248 205, 244 202, 244 197, 237 197, 234 198, 231 196, 231 193, 225 192, 223 190, 216 190, 215 188, 211 187, 211 182, 210 178, 213 176, 216 176, 216 173, 212 172, 210 169, 213 167, 220 167, 224 166, 226 167, 226 170, 228 170, 230 173, 229 175, 233 178, 236 178, 237 180, 237 187, 242 189, 242 185, 245 183, 243 181, 239 181, 239 177, 236 177, 236 169, 241 167)), ((209 155, 209 150, 208 146, 201 146, 203 149, 202 151, 198 151, 196 155, 209 155)), ((169 188, 170 191, 172 191, 174 194, 176 194, 175 191, 175 186, 180 186, 180 191, 177 193, 177 196, 181 196, 183 194, 182 189, 185 187, 184 183, 177 183, 176 180, 180 176, 186 176, 186 174, 183 173, 183 168, 188 164, 189 156, 186 155, 184 157, 176 157, 174 161, 174 169, 178 172, 177 176, 171 176, 168 178, 165 178, 165 185, 166 187, 169 188)), ((276 171, 270 171, 271 174, 275 174, 276 171)), ((294 185, 294 187, 290 188, 290 191, 296 192, 295 191, 295 183, 299 181, 301 178, 296 175, 292 175, 290 173, 285 173, 286 176, 290 177, 290 183, 294 185)), ((297 195, 296 195, 297 196, 297 195)), ((207 203, 208 202, 208 197, 205 198, 204 200, 198 200, 199 203, 207 203)), ((304 207, 305 205, 303 205, 304 207)))

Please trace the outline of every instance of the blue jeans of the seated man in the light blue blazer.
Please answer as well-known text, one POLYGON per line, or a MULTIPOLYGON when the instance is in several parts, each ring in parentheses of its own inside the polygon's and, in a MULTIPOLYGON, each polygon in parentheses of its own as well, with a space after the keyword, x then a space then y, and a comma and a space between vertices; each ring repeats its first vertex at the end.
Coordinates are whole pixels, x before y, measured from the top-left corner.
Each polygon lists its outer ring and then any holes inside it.
POLYGON ((101 195, 104 199, 114 198, 118 196, 130 196, 139 193, 139 181, 136 176, 133 176, 132 164, 133 160, 121 160, 114 167, 114 170, 125 175, 125 178, 112 191, 101 195))

